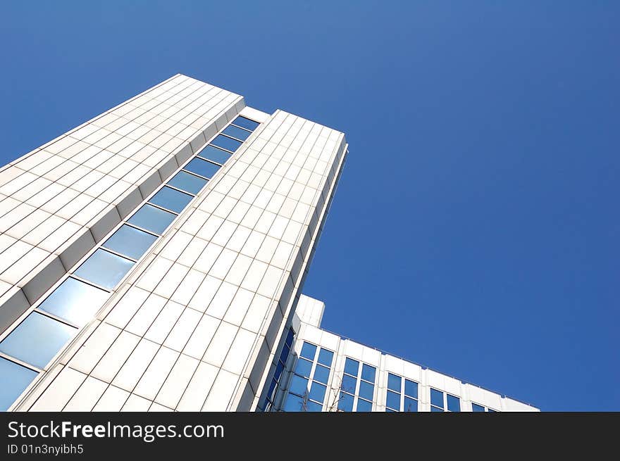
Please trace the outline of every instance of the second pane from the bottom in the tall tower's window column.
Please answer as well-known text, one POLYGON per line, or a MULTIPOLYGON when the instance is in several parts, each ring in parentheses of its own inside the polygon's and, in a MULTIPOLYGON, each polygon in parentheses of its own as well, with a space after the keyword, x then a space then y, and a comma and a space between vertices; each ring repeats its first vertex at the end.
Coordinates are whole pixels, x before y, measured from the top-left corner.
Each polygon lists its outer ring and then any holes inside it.
POLYGON ((0 352, 44 368, 75 331, 58 320, 32 312, 0 343, 0 352))

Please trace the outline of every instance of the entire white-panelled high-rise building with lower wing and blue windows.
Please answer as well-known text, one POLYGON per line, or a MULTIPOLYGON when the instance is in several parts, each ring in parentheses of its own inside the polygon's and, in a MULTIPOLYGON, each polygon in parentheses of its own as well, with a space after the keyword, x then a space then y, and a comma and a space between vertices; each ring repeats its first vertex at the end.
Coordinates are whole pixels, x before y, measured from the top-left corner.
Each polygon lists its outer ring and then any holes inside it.
POLYGON ((0 410, 533 409, 318 328, 347 147, 175 75, 1 168, 0 410))

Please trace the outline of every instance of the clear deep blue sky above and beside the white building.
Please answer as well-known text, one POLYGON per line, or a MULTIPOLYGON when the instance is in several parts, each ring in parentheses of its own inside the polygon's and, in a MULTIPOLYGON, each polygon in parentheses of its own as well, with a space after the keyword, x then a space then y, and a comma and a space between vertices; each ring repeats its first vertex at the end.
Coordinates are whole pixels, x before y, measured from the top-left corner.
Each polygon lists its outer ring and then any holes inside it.
POLYGON ((619 2, 8 3, 2 164, 176 72, 335 127, 326 329, 620 410, 619 2))

